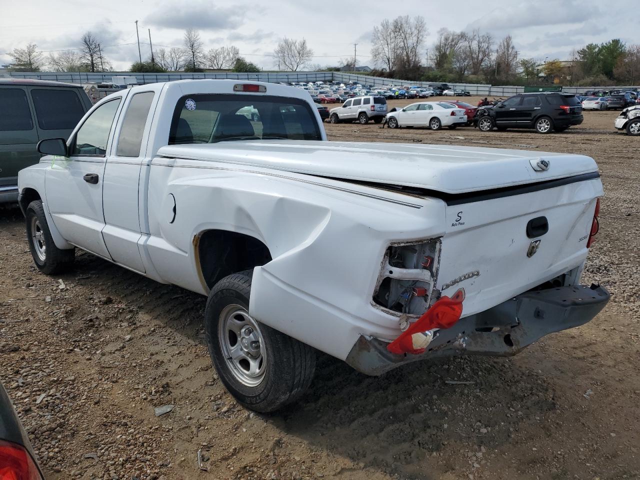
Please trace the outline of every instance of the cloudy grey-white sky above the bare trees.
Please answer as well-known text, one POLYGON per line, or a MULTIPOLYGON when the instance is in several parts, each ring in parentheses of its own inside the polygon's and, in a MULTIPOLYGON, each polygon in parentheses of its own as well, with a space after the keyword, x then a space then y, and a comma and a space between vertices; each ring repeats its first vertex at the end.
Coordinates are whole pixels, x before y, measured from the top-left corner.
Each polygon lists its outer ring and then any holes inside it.
MULTIPOLYGON (((143 60, 149 57, 148 31, 154 49, 182 45, 184 29, 196 28, 205 49, 236 45, 243 56, 262 68, 273 69, 270 56, 282 36, 306 38, 314 51, 313 64, 335 65, 353 55, 358 65, 372 65, 373 26, 397 15, 422 15, 429 26, 426 47, 436 31, 479 28, 495 38, 511 34, 521 57, 564 60, 574 48, 589 42, 621 38, 637 43, 636 12, 624 3, 595 0, 458 0, 455 8, 441 1, 414 2, 395 8, 388 0, 364 4, 324 0, 265 0, 244 3, 207 0, 3 0, 0 16, 0 65, 16 47, 35 42, 41 51, 79 47, 84 32, 92 31, 116 70, 138 60, 136 28, 139 20, 143 60)), ((48 53, 47 53, 48 54, 48 53)))

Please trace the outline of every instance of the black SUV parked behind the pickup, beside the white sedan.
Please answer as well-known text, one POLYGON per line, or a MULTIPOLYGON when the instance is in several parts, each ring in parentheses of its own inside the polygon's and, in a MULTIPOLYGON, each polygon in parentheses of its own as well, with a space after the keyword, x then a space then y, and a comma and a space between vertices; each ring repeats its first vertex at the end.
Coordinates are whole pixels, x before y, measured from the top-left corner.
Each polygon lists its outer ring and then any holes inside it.
POLYGON ((539 133, 563 132, 580 125, 582 104, 573 93, 521 93, 497 105, 479 108, 476 127, 488 132, 508 128, 536 129, 539 133))

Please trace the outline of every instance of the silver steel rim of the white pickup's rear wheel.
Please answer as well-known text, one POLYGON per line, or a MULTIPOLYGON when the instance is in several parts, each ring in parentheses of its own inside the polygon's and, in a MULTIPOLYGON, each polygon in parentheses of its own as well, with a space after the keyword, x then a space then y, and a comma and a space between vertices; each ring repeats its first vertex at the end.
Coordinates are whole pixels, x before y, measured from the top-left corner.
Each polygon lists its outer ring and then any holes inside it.
POLYGON ((227 305, 218 319, 218 339, 227 367, 246 387, 257 387, 266 374, 266 350, 257 321, 240 305, 227 305))

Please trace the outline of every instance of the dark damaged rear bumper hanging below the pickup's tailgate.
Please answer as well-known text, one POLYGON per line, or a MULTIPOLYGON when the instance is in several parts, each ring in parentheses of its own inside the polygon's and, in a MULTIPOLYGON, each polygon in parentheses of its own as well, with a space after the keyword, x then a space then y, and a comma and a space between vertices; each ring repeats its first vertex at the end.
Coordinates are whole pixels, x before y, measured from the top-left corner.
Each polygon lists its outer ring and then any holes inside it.
POLYGON ((361 335, 346 362, 357 371, 381 375, 400 365, 436 356, 511 356, 548 333, 587 323, 609 301, 599 285, 573 285, 525 292, 489 310, 438 330, 421 355, 396 355, 387 342, 361 335))

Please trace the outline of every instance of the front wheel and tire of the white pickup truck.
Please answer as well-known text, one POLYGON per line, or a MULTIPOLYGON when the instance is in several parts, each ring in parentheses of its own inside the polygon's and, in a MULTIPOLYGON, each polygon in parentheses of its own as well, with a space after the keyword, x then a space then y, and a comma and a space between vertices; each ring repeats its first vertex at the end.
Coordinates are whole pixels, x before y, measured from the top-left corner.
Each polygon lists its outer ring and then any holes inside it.
POLYGON ((47 275, 54 275, 72 267, 76 259, 76 249, 61 250, 53 242, 40 200, 33 200, 28 205, 26 227, 29 250, 38 270, 47 275))

